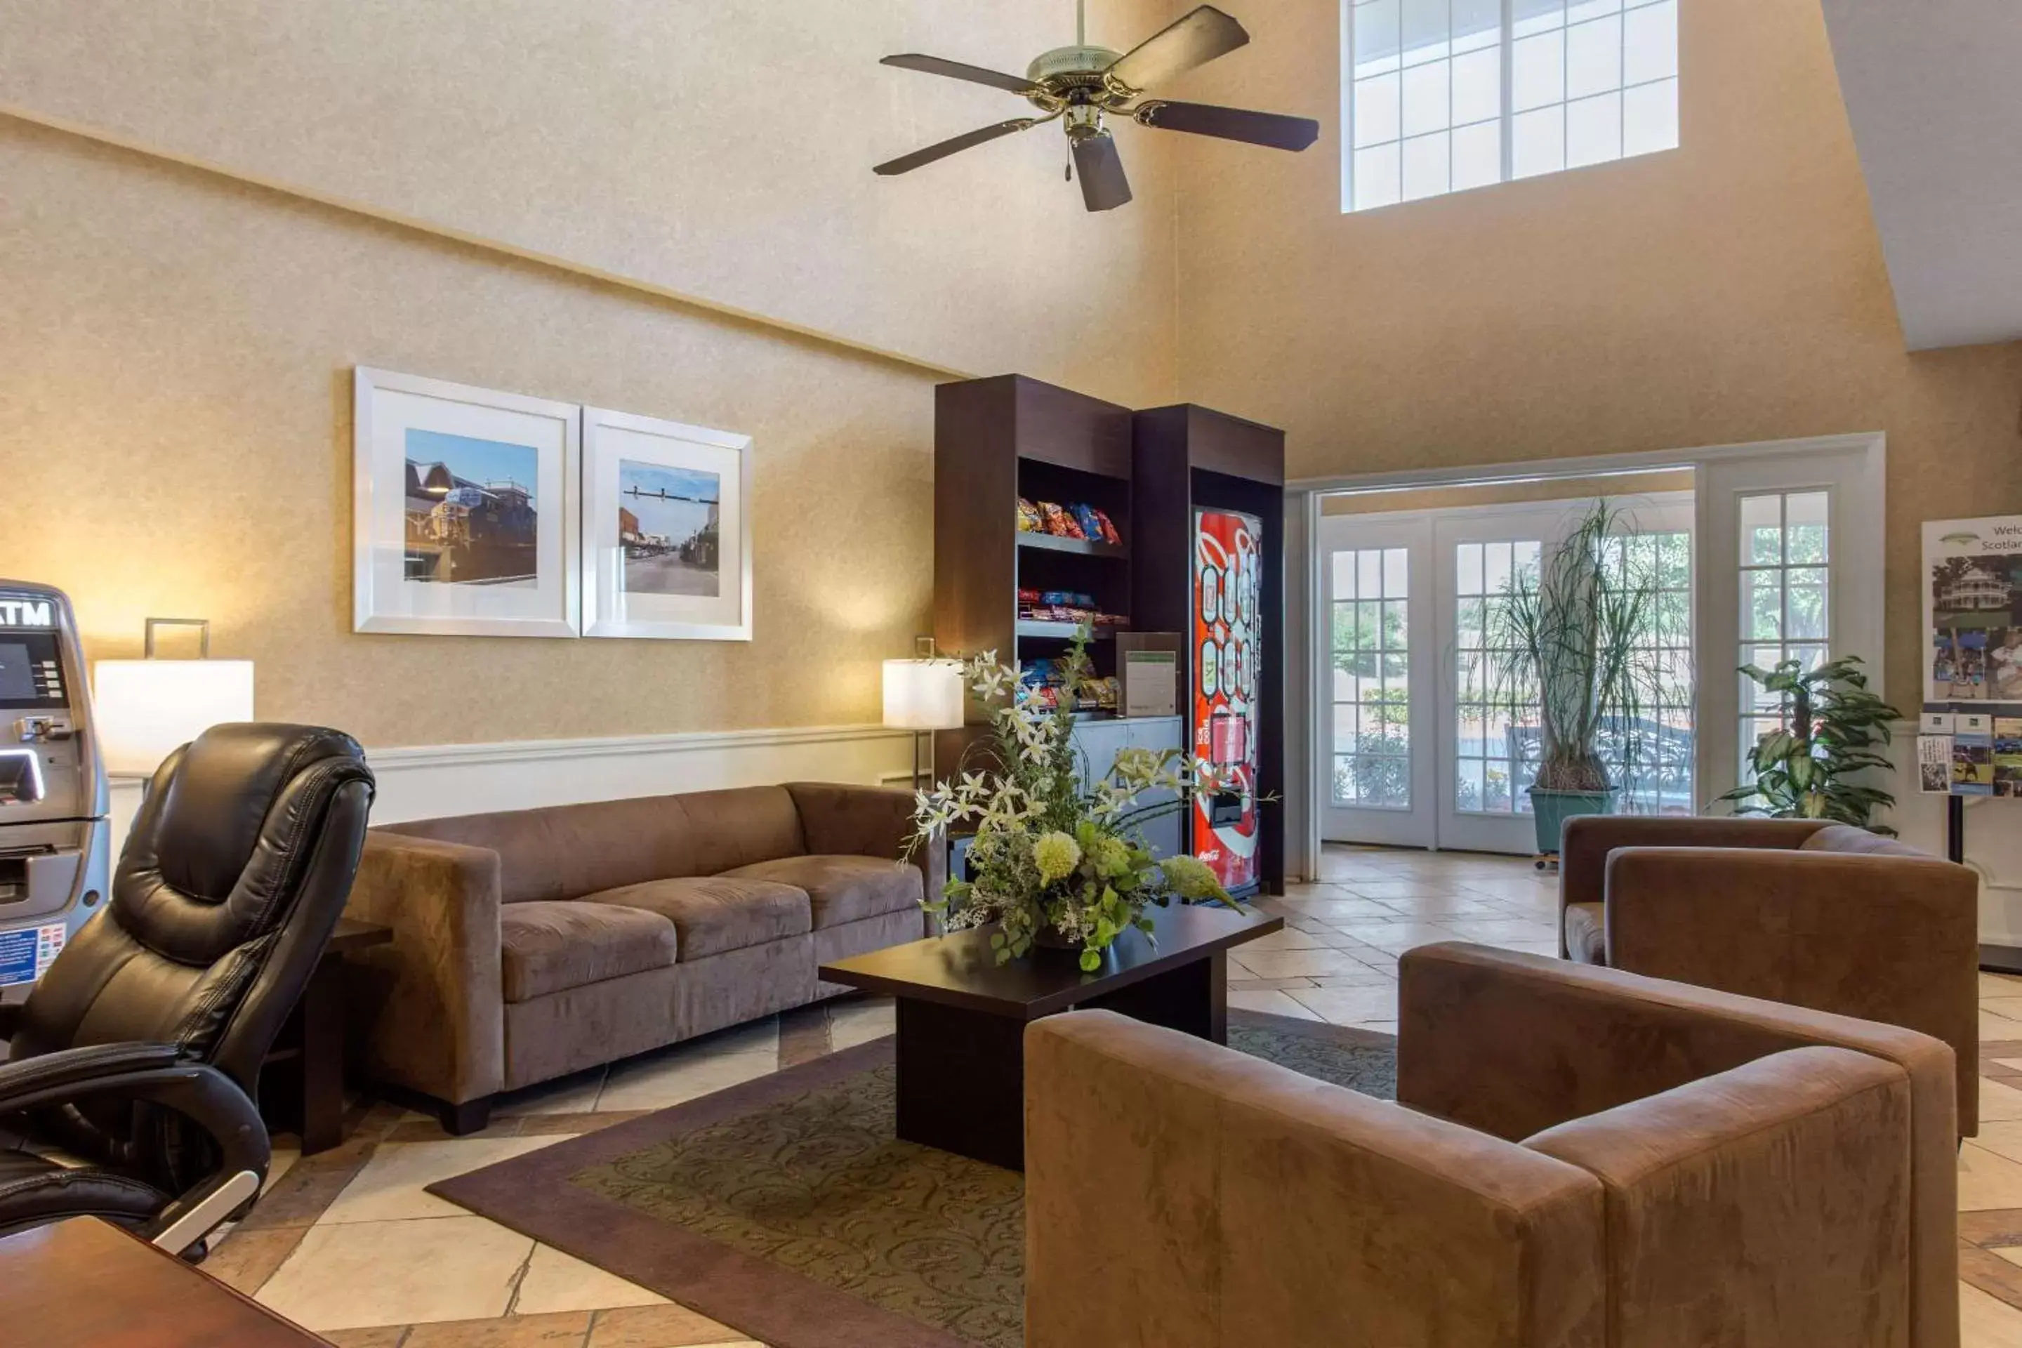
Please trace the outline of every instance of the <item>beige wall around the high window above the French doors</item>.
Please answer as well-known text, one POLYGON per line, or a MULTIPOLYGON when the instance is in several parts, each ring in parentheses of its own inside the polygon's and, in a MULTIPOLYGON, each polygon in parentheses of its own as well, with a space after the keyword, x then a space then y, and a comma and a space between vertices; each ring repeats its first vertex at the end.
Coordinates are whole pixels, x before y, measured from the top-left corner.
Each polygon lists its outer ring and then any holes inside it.
POLYGON ((2022 509, 2022 346, 1905 354, 1818 0, 1680 12, 1680 150, 1341 214, 1337 6, 1274 6, 1191 95, 1324 131, 1189 141, 1181 390, 1286 426, 1292 475, 1887 430, 1913 703, 1917 521, 2022 509))

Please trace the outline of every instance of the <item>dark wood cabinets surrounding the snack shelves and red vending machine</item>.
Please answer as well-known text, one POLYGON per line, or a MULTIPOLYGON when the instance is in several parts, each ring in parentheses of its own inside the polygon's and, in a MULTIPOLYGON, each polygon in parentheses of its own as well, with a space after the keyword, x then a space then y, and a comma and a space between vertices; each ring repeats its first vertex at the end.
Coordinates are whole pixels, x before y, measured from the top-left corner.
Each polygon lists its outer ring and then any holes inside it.
MULTIPOLYGON (((1019 616, 1019 588, 1090 594, 1128 614, 1098 627, 1090 659, 1116 673, 1116 633, 1181 633, 1179 717, 1078 717, 1076 738, 1100 768, 1122 746, 1195 752, 1193 548, 1197 505, 1262 523, 1264 685, 1258 695, 1258 790, 1284 792, 1284 432, 1199 406, 1132 412, 1019 374, 934 390, 934 641, 942 651, 997 651, 1029 663, 1066 653, 1074 622, 1019 616), (1120 546, 1025 534, 1017 501, 1088 503, 1116 525, 1120 546)), ((936 770, 962 760, 987 724, 940 732, 936 770)), ((1098 770, 1100 770, 1098 768, 1098 770)), ((1262 889, 1284 887, 1284 812, 1258 814, 1262 889)), ((1163 851, 1183 847, 1177 821, 1163 851)))

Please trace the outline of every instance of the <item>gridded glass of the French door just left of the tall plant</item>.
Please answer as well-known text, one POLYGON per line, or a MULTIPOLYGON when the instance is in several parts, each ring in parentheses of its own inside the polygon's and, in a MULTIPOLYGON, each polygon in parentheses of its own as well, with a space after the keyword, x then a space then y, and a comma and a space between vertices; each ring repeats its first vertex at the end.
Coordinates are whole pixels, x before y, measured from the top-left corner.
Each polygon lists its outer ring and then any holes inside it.
POLYGON ((1535 748, 1537 697, 1510 663, 1500 614, 1512 586, 1535 586, 1539 540, 1454 546, 1454 808, 1468 814, 1531 810, 1523 758, 1535 748))

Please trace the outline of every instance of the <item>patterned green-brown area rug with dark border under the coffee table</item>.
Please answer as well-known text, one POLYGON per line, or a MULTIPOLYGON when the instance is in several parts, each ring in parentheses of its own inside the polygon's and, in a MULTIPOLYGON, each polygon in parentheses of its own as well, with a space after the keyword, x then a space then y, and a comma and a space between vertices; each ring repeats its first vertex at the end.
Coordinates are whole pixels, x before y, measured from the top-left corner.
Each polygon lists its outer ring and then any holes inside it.
MULTIPOLYGON (((1375 1097, 1395 1041, 1229 1013, 1229 1047, 1375 1097)), ((1023 1176, 894 1138, 892 1041, 431 1192, 774 1348, 1019 1348, 1023 1176)))

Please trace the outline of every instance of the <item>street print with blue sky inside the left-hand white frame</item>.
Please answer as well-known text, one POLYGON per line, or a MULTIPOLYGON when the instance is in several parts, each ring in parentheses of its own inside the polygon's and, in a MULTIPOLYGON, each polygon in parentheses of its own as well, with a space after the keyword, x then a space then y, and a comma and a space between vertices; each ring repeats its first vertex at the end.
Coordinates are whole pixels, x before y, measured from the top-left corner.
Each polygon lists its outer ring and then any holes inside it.
POLYGON ((536 584, 540 519, 532 445, 406 430, 406 580, 536 584))

